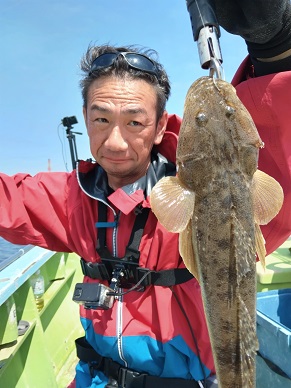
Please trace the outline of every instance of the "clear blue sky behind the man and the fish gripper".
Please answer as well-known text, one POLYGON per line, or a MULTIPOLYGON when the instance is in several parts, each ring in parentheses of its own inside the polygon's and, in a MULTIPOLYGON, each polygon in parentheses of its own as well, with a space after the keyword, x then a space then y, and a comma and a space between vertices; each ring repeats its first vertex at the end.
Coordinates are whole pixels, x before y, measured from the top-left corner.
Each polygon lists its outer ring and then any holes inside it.
MULTIPOLYGON (((200 68, 185 0, 0 1, 0 170, 71 170, 62 118, 76 116, 79 158, 90 151, 82 117, 79 63, 90 43, 155 49, 167 70, 170 113, 183 114, 200 68), (61 143, 61 140, 62 143, 61 143), (65 156, 65 161, 64 157, 65 156)), ((222 30, 225 79, 246 56, 244 41, 222 30)))

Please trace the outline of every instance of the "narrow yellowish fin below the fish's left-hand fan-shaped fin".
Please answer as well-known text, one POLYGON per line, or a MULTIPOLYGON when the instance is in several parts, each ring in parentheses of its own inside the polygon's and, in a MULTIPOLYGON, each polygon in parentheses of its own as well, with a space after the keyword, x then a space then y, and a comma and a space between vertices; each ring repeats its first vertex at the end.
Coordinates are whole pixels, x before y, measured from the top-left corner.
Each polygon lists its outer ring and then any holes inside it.
POLYGON ((182 256, 185 267, 199 281, 198 268, 195 259, 194 249, 192 245, 192 222, 188 223, 179 235, 179 252, 182 256))

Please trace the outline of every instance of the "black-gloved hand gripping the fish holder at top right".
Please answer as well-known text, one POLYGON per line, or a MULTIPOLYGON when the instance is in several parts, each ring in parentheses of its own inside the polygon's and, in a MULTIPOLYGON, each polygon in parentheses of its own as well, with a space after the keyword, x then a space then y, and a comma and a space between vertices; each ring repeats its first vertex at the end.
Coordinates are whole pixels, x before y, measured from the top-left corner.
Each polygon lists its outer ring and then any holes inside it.
POLYGON ((242 36, 252 57, 269 58, 291 48, 290 0, 214 0, 219 24, 242 36))

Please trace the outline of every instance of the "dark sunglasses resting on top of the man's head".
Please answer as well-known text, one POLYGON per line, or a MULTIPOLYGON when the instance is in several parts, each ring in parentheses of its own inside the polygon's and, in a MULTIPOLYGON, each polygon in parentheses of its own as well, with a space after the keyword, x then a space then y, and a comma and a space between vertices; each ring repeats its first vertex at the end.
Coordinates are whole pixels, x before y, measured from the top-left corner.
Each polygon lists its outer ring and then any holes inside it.
POLYGON ((119 57, 119 55, 123 56, 128 66, 131 67, 132 69, 153 74, 159 80, 158 69, 155 62, 143 54, 132 53, 132 52, 117 52, 117 53, 101 54, 92 62, 89 75, 91 75, 94 71, 98 71, 112 66, 116 58, 119 57))

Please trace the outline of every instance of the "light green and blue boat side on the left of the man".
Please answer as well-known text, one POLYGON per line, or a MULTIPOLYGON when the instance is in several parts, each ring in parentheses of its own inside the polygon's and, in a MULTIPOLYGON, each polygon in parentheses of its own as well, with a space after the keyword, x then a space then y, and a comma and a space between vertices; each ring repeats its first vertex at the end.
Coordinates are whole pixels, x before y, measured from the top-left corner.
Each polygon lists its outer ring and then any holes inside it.
POLYGON ((78 304, 80 258, 27 246, 0 267, 0 386, 67 387, 77 363, 75 339, 83 333, 78 304), (31 279, 44 279, 39 309, 31 279), (40 311, 39 311, 40 310, 40 311))

